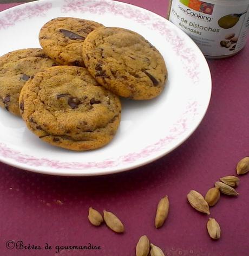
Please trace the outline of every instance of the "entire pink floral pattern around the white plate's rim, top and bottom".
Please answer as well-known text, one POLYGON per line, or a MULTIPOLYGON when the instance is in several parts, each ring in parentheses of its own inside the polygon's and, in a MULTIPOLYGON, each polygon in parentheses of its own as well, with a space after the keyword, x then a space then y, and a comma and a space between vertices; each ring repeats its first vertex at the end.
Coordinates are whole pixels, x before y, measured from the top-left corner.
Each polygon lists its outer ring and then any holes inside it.
MULTIPOLYGON (((102 15, 107 12, 112 12, 114 15, 121 15, 125 18, 134 20, 140 24, 146 24, 148 28, 157 30, 165 40, 168 41, 177 56, 180 57, 186 73, 192 80, 193 84, 199 82, 199 62, 197 56, 194 53, 194 49, 189 48, 185 44, 185 38, 178 34, 178 31, 172 29, 167 22, 153 14, 152 12, 143 10, 141 8, 133 7, 132 5, 123 4, 120 2, 110 0, 64 0, 61 7, 63 13, 67 12, 91 12, 93 14, 102 15)), ((9 10, 5 15, 0 18, 0 30, 6 29, 17 22, 30 19, 32 17, 45 16, 46 12, 53 7, 53 4, 44 1, 41 4, 34 5, 22 5, 13 10, 9 10)), ((55 161, 47 158, 37 158, 30 155, 25 155, 22 152, 11 149, 8 145, 0 143, 0 155, 4 158, 11 158, 18 163, 22 163, 29 166, 44 166, 53 169, 69 169, 69 170, 81 170, 81 169, 106 169, 117 167, 122 164, 125 168, 130 163, 135 163, 141 158, 147 158, 152 156, 156 152, 163 152, 163 149, 171 142, 177 142, 177 140, 187 133, 189 126, 196 121, 198 113, 198 101, 189 101, 186 111, 182 114, 182 117, 173 125, 169 130, 168 135, 165 138, 160 139, 153 145, 149 145, 142 149, 140 152, 132 152, 125 156, 118 158, 106 159, 102 162, 62 162, 55 161)))

